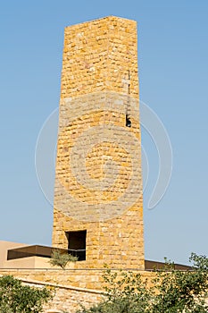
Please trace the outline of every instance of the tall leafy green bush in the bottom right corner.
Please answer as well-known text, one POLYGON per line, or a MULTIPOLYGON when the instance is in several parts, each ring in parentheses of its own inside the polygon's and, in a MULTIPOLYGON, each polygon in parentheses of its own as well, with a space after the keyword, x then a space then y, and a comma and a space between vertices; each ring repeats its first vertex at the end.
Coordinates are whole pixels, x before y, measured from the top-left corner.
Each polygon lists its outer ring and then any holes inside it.
POLYGON ((153 313, 195 312, 205 313, 208 306, 208 258, 192 253, 189 261, 193 263, 192 271, 174 269, 170 262, 166 270, 157 272, 153 313))

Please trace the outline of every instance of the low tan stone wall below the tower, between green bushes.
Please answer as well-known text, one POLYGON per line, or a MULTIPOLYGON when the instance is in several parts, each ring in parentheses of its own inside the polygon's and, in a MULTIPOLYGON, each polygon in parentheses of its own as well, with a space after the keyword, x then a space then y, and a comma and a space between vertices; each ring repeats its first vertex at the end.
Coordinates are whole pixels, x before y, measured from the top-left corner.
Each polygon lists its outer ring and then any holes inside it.
MULTIPOLYGON (((54 299, 46 304, 44 313, 75 313, 79 304, 90 307, 104 298, 102 274, 104 270, 26 270, 1 269, 1 275, 13 275, 23 283, 39 288, 47 286, 54 299)), ((151 272, 139 272, 150 279, 151 272)))

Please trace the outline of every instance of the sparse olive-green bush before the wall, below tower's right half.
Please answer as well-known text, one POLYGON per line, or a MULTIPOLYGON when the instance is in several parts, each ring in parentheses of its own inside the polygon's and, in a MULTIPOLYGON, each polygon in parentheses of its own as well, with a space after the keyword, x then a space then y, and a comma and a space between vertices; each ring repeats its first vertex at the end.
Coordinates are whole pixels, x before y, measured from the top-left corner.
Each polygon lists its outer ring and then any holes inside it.
POLYGON ((104 301, 78 313, 144 313, 149 312, 151 292, 141 275, 131 271, 113 272, 107 269, 103 275, 104 301))

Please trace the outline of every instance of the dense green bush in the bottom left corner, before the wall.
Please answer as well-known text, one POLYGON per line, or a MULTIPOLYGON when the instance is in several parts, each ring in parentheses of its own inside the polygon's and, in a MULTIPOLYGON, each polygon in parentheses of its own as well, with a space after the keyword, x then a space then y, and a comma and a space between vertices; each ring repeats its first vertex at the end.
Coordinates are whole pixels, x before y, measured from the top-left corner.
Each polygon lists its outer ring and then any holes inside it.
POLYGON ((23 285, 12 275, 0 277, 0 312, 42 312, 43 304, 52 299, 52 292, 45 288, 23 285))

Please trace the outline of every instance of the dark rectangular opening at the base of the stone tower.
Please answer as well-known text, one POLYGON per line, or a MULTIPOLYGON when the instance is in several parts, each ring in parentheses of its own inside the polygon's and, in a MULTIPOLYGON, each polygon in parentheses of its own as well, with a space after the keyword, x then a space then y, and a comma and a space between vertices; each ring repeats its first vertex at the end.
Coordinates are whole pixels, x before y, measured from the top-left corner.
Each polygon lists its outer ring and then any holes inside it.
POLYGON ((69 253, 74 257, 78 257, 79 261, 86 260, 87 231, 68 232, 66 236, 68 239, 69 253))

